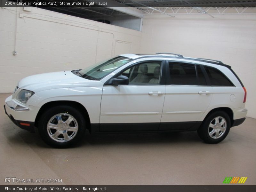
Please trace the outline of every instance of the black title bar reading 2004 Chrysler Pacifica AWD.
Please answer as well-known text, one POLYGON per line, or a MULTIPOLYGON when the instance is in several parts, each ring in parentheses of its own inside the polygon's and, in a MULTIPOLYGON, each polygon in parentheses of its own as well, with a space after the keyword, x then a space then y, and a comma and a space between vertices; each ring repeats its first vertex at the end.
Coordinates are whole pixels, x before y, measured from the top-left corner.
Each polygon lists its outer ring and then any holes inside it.
POLYGON ((256 1, 0 0, 1 7, 255 7, 256 1))

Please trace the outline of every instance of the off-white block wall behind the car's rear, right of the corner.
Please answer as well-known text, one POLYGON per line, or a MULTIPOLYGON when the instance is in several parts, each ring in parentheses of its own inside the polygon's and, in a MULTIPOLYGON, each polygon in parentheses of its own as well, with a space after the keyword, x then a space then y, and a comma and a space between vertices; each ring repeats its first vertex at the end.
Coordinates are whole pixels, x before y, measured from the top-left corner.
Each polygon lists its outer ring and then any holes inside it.
POLYGON ((256 118, 255 15, 146 16, 141 52, 174 52, 221 60, 232 66, 247 89, 248 116, 256 118))

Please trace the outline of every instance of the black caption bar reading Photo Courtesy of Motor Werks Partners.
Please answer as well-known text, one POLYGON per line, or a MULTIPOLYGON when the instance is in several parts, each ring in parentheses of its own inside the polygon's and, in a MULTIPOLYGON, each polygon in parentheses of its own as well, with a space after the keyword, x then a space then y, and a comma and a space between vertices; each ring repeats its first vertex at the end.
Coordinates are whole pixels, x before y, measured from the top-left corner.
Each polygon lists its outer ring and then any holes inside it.
POLYGON ((250 185, 219 185, 219 186, 167 186, 167 185, 98 185, 98 186, 83 186, 83 185, 68 185, 68 186, 47 186, 47 185, 2 185, 0 186, 1 192, 255 192, 256 186, 250 185))

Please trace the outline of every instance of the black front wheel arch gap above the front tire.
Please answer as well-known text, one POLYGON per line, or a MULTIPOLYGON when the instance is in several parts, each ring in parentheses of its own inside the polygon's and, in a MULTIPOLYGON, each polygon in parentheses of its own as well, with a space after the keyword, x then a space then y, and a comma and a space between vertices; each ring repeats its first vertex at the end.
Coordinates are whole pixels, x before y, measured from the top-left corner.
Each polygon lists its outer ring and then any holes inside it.
POLYGON ((90 121, 88 111, 81 103, 76 102, 76 101, 70 101, 70 100, 50 101, 50 102, 45 103, 39 109, 39 111, 36 115, 35 127, 38 127, 39 118, 47 108, 51 108, 51 107, 55 107, 55 106, 59 106, 59 105, 68 105, 68 106, 74 107, 74 108, 78 109, 82 114, 84 114, 84 119, 86 122, 86 129, 88 129, 89 132, 91 133, 91 121, 90 121))

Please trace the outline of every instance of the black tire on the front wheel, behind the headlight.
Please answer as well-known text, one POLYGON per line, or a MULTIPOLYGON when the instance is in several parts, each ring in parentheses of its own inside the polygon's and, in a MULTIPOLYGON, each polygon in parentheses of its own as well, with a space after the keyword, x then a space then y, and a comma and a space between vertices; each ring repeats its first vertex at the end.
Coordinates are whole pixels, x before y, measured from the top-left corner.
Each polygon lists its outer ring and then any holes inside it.
POLYGON ((71 145, 77 143, 78 141, 80 141, 84 134, 85 134, 85 119, 82 116, 81 112, 79 110, 77 110, 76 108, 73 108, 71 106, 65 106, 65 105, 61 105, 61 106, 55 106, 52 108, 47 109, 46 111, 44 111, 44 113, 41 115, 39 122, 38 122, 38 132, 40 134, 40 136, 42 137, 42 139, 44 140, 45 143, 47 143, 48 145, 55 147, 55 148, 68 148, 71 145), (60 114, 57 118, 53 118, 53 116, 60 114), (61 117, 61 124, 59 123, 59 120, 61 117), (74 129, 74 131, 68 131, 65 128, 65 122, 67 121, 67 118, 73 119, 71 123, 66 123, 68 124, 67 127, 72 127, 74 129), (66 120, 65 120, 66 118, 66 120), (59 120, 58 120, 59 119, 59 120), (52 120, 50 122, 50 120, 52 120), (55 122, 56 123, 55 123, 55 122), (48 123, 52 123, 54 124, 54 126, 57 126, 58 128, 56 128, 56 132, 58 130, 58 137, 57 138, 53 138, 54 135, 54 129, 50 129, 49 126, 47 128, 47 124, 48 123), (56 125, 55 125, 56 124, 56 125), (61 126, 63 124, 63 126, 61 126), (69 126, 69 125, 73 125, 73 126, 69 126), (63 128, 64 127, 64 128, 63 128), (64 130, 62 130, 64 129, 64 130), (66 130, 65 130, 66 129, 66 130), (75 130, 76 129, 76 130, 75 130), (53 132, 53 133, 52 133, 53 132), (63 133, 62 133, 63 132, 63 133), (68 136, 66 136, 66 133, 68 134, 68 136), (66 136, 67 141, 65 140, 64 134, 66 136), (72 135, 73 134, 73 135, 72 135), (51 136, 50 136, 51 135, 51 136), (63 137, 63 139, 61 138, 63 137))

